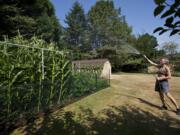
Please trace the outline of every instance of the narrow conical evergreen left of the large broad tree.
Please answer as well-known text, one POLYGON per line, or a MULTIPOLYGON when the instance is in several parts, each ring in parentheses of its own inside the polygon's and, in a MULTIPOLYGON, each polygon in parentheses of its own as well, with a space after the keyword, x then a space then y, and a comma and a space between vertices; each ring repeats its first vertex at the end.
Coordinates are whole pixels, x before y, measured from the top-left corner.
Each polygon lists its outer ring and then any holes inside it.
POLYGON ((87 21, 84 10, 79 2, 73 4, 72 9, 66 15, 68 27, 66 28, 66 41, 71 49, 85 49, 85 34, 87 21))

